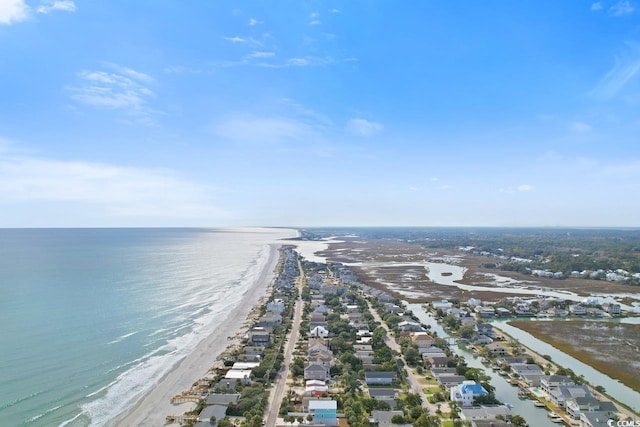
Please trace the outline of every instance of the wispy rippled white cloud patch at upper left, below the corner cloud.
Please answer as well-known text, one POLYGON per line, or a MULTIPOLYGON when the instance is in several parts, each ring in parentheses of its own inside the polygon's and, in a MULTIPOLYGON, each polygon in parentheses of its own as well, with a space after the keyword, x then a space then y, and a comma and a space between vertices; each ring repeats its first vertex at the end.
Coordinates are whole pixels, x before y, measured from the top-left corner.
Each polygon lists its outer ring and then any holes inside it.
POLYGON ((146 84, 154 79, 144 73, 108 64, 112 71, 80 71, 78 83, 69 88, 71 97, 85 105, 97 108, 119 109, 138 116, 149 116, 147 105, 153 91, 146 84))

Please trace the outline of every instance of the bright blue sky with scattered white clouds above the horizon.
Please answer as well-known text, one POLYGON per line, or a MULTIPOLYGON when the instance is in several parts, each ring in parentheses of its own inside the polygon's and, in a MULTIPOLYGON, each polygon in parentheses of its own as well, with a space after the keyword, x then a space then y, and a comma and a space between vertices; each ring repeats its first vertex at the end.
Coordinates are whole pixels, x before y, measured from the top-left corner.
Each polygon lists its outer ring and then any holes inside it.
POLYGON ((0 226, 640 226, 640 2, 0 0, 0 226))

